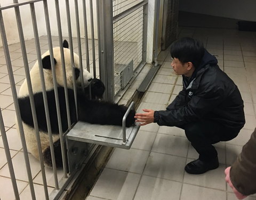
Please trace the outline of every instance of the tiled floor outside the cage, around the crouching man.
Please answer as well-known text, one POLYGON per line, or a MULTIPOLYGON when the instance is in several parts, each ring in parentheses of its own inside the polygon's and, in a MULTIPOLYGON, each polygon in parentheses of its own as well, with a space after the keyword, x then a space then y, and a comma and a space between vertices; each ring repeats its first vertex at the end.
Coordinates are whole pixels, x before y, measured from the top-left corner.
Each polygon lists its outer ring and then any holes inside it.
MULTIPOLYGON (((215 144, 220 167, 201 175, 184 171, 198 154, 177 127, 142 126, 130 150, 115 149, 87 200, 235 200, 225 182, 231 165, 256 126, 256 33, 233 29, 181 27, 180 37, 201 39, 219 66, 237 84, 245 102, 246 124, 238 137, 215 144)), ((170 66, 169 51, 159 55, 162 63, 143 97, 142 108, 165 109, 182 89, 181 78, 170 66)), ((246 200, 256 200, 256 195, 246 200)))

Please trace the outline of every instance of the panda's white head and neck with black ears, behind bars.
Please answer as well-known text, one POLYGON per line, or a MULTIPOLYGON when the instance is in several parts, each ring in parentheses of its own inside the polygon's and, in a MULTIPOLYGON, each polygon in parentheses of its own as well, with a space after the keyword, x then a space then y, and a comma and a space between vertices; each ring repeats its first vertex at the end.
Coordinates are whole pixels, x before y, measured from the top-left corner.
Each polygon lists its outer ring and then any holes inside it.
MULTIPOLYGON (((65 40, 63 42, 63 52, 65 58, 65 67, 66 67, 66 77, 67 77, 67 86, 69 89, 73 89, 73 68, 75 69, 75 79, 76 85, 81 86, 81 71, 79 69, 79 57, 74 53, 74 63, 71 63, 70 50, 68 49, 68 42, 65 40)), ((64 86, 63 73, 62 73, 62 61, 60 47, 53 48, 53 57, 54 57, 54 68, 56 73, 57 84, 59 86, 64 86)), ((53 89, 53 77, 52 77, 52 65, 50 59, 50 52, 47 51, 42 55, 42 64, 44 71, 44 79, 46 91, 53 89)), ((92 74, 89 73, 86 69, 83 69, 83 82, 84 86, 88 86, 92 80, 92 74)), ((39 66, 38 61, 35 63, 33 68, 30 70, 31 84, 33 87, 33 93, 42 92, 41 79, 39 75, 39 66)), ((28 95, 27 80, 23 82, 20 88, 19 97, 28 95)))

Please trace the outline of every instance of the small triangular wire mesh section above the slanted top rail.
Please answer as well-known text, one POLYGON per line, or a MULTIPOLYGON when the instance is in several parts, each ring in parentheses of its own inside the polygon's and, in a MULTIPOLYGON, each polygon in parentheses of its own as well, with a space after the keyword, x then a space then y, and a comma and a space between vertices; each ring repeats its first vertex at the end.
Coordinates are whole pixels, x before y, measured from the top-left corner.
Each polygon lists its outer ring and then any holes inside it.
POLYGON ((132 6, 143 2, 143 0, 113 0, 113 17, 130 9, 132 6))

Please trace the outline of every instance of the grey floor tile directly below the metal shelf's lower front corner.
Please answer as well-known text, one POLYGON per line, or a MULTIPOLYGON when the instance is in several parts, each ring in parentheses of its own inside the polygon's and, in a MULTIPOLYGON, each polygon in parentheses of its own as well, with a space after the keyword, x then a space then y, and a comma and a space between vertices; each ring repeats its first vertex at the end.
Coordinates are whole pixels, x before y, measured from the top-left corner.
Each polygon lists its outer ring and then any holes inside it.
POLYGON ((139 149, 115 149, 106 167, 127 172, 142 173, 149 151, 139 149))

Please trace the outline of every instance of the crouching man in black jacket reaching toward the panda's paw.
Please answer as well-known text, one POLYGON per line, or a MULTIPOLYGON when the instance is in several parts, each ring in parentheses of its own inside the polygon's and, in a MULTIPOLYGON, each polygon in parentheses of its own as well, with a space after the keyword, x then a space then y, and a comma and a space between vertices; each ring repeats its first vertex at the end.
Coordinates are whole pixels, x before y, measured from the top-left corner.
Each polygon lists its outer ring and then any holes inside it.
POLYGON ((183 89, 166 110, 143 109, 134 117, 140 125, 157 123, 185 130, 199 154, 185 171, 202 174, 219 167, 212 144, 237 136, 245 124, 244 103, 235 83, 217 65, 217 59, 196 39, 185 37, 171 45, 171 66, 182 75, 183 89))

